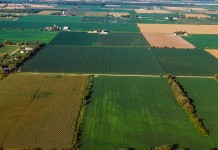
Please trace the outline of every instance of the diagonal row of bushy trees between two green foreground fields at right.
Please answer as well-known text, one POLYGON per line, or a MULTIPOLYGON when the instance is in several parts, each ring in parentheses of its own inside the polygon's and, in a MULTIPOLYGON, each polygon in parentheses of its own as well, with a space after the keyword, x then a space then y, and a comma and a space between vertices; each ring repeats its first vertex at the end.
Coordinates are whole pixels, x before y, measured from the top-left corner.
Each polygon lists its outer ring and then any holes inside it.
POLYGON ((172 92, 177 100, 177 102, 182 106, 182 108, 186 111, 189 116, 190 121, 194 124, 197 131, 204 135, 209 135, 209 130, 204 127, 204 124, 201 119, 199 119, 196 115, 196 110, 194 105, 191 103, 191 100, 188 98, 186 93, 183 91, 183 88, 172 75, 166 76, 168 83, 172 88, 172 92))

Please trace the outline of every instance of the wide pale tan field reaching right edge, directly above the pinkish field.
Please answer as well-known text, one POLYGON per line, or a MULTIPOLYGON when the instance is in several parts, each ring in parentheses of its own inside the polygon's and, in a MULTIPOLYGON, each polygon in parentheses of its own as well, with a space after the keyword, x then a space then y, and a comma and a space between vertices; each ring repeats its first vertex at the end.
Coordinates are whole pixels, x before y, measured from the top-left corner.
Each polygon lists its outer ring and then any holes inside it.
POLYGON ((187 24, 138 24, 141 32, 174 33, 186 31, 190 34, 218 34, 218 25, 187 25, 187 24))

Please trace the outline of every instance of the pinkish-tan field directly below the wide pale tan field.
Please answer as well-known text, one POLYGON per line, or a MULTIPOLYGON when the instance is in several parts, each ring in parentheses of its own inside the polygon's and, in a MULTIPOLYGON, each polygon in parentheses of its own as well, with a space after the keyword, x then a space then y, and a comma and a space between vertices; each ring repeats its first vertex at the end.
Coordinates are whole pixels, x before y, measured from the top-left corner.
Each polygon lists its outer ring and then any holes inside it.
POLYGON ((165 33, 143 33, 143 36, 148 43, 153 47, 163 48, 183 48, 193 49, 195 46, 174 34, 165 33))

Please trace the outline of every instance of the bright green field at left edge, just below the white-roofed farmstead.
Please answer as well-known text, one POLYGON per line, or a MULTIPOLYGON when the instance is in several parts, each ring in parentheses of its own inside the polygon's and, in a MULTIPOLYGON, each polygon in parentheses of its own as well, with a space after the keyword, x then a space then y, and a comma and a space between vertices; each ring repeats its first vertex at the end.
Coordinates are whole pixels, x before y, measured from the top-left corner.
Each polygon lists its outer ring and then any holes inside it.
POLYGON ((19 30, 0 30, 0 43, 4 40, 11 42, 39 40, 40 43, 49 43, 58 32, 47 31, 19 31, 19 30))

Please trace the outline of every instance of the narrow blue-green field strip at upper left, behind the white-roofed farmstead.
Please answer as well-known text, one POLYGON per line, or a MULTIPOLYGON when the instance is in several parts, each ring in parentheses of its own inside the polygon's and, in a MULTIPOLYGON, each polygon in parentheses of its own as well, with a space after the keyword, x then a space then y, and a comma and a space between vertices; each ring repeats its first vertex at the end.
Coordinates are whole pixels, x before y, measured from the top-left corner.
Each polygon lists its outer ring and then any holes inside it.
MULTIPOLYGON (((80 22, 82 17, 78 16, 52 16, 52 15, 28 15, 18 19, 19 21, 30 22, 80 22)), ((17 21, 18 21, 17 20, 17 21)))

